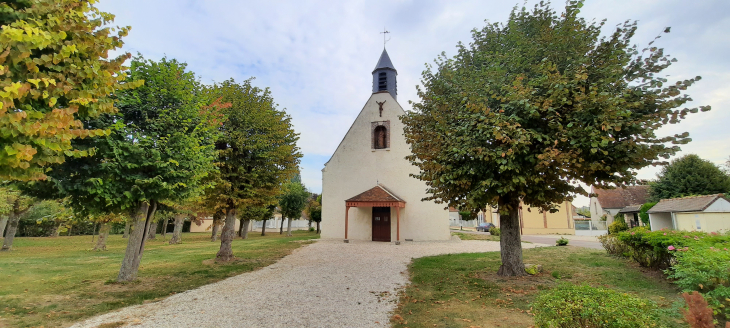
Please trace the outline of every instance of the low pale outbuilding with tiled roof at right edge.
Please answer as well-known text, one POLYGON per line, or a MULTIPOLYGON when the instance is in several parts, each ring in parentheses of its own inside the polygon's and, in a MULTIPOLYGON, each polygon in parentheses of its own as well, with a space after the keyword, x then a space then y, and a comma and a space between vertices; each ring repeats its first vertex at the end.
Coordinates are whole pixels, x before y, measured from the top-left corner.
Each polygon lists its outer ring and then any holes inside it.
POLYGON ((647 211, 651 230, 730 230, 730 201, 723 194, 662 199, 647 211))

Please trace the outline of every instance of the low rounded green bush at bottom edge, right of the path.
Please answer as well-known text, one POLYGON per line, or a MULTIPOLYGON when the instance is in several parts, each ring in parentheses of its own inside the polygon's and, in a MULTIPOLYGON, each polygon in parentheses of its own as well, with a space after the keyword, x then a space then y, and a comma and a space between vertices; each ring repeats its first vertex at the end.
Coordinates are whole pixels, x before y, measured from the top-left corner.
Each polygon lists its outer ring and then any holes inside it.
POLYGON ((535 325, 543 328, 657 327, 654 302, 588 285, 561 284, 535 300, 535 325))

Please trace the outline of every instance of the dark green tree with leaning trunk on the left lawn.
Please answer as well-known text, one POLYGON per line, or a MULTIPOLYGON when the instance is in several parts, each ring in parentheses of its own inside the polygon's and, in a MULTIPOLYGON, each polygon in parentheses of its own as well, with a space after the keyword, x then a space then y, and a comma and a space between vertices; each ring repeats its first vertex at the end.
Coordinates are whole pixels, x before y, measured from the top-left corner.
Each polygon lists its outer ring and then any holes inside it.
POLYGON ((79 213, 127 212, 129 235, 118 281, 136 279, 158 204, 194 197, 215 170, 214 142, 222 117, 202 93, 186 64, 133 59, 127 73, 144 86, 118 92, 119 113, 86 121, 113 130, 105 138, 79 140, 93 156, 71 158, 49 173, 79 213))

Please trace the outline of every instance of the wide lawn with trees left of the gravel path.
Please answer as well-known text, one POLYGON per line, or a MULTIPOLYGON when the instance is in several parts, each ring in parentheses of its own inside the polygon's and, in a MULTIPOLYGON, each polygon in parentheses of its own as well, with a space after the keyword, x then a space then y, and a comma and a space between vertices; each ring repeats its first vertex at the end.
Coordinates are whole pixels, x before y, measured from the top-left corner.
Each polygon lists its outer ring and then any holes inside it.
POLYGON ((128 284, 110 283, 127 245, 121 235, 109 236, 105 252, 91 251, 91 236, 16 238, 13 251, 0 253, 0 327, 68 325, 256 270, 319 238, 308 231, 285 236, 251 232, 248 240, 233 242, 236 263, 217 265, 210 259, 220 241, 211 242, 210 233, 183 234, 179 245, 158 234, 145 244, 138 281, 128 284))

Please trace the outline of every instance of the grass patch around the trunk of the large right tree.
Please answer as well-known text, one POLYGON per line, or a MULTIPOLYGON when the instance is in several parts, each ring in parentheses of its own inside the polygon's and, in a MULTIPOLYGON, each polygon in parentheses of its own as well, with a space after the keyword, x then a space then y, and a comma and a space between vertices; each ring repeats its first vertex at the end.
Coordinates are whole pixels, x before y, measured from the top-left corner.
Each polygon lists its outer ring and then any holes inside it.
POLYGON ((532 277, 497 276, 499 253, 452 254, 413 260, 411 284, 400 296, 393 327, 534 327, 532 303, 561 282, 587 283, 656 301, 658 327, 688 327, 679 290, 657 271, 642 269, 604 251, 579 247, 526 249, 525 263, 542 264, 532 277))

